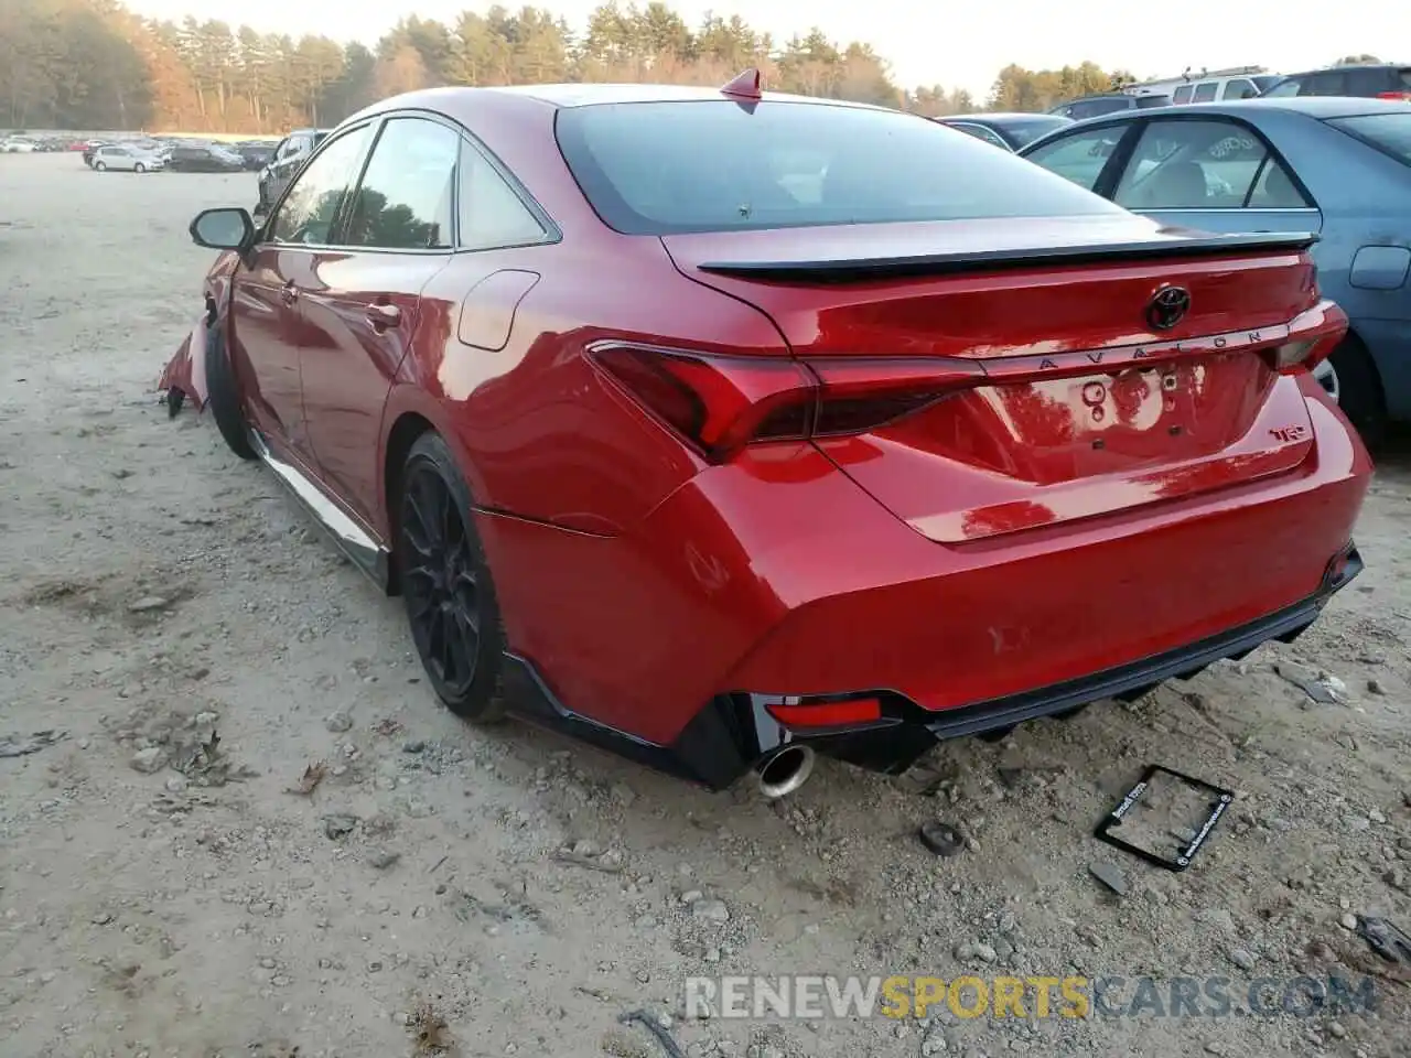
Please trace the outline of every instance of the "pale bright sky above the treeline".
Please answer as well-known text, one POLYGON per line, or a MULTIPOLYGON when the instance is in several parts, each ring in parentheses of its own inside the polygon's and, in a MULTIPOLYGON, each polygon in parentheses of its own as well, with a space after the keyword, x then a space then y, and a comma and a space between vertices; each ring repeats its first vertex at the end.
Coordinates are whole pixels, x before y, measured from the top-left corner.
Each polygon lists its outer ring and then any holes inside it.
MULTIPOLYGON (((562 14, 581 31, 597 3, 540 0, 535 6, 562 14)), ((505 3, 519 6, 521 0, 505 3)), ((402 16, 452 21, 463 10, 483 13, 490 4, 241 0, 217 7, 199 0, 131 0, 128 7, 157 18, 196 14, 243 21, 262 32, 315 32, 371 44, 402 16)), ((1171 7, 1151 0, 971 0, 955 4, 954 13, 926 0, 677 0, 672 7, 690 25, 707 10, 727 18, 738 14, 776 39, 818 25, 840 42, 871 44, 890 61, 893 79, 904 87, 964 87, 976 97, 988 95, 995 75, 1010 62, 1053 69, 1091 59, 1139 78, 1175 76, 1187 66, 1267 66, 1294 73, 1363 52, 1411 62, 1411 3, 1405 0, 1342 0, 1335 7, 1312 0, 1171 7), (1407 52, 1387 54, 1388 42, 1407 52)))

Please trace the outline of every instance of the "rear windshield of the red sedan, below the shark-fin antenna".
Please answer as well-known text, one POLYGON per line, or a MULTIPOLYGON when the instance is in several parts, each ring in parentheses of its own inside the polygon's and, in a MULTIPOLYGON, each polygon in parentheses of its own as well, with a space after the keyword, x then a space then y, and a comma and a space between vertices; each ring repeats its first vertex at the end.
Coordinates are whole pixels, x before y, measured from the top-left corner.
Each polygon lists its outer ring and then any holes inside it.
POLYGON ((614 103, 557 116, 598 216, 662 236, 1122 210, 965 133, 888 110, 728 100, 614 103))

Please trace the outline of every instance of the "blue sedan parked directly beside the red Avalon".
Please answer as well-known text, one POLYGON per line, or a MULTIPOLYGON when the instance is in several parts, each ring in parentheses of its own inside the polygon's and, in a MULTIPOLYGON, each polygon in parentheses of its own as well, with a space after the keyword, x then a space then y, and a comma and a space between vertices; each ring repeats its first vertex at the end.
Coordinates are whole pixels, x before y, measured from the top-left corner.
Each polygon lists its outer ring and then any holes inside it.
POLYGON ((1411 419, 1411 104, 1173 107, 1084 121, 1022 155, 1167 224, 1319 234, 1319 286, 1352 326, 1315 374, 1371 444, 1411 419))

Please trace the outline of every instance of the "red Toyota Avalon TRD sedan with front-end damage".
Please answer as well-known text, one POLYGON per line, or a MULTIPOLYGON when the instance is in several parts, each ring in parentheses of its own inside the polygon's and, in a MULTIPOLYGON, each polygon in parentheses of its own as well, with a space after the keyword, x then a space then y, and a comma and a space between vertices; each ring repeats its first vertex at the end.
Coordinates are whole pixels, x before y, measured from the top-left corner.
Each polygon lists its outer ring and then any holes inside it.
POLYGON ((172 413, 405 600, 471 721, 779 796, 1291 640, 1362 568, 1314 237, 917 116, 418 92, 190 231, 172 413))

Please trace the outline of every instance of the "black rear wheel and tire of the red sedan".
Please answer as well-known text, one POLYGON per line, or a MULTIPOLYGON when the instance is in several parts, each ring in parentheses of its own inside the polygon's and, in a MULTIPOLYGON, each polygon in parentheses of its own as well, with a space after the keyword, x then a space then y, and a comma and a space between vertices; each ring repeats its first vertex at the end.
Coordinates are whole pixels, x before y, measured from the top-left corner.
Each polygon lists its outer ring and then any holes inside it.
POLYGON ((463 719, 502 719, 505 629, 495 585, 470 488, 436 433, 423 433, 406 454, 394 525, 406 624, 432 688, 463 719))

